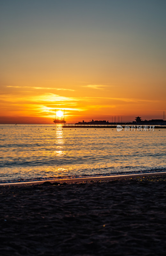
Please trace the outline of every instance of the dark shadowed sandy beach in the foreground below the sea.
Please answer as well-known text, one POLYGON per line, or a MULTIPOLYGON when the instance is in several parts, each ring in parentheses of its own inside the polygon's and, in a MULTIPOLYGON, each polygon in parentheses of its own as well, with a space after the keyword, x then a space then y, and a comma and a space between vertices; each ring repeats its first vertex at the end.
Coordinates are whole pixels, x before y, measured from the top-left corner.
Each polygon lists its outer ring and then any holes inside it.
POLYGON ((165 198, 164 173, 0 186, 0 254, 165 255, 165 198))

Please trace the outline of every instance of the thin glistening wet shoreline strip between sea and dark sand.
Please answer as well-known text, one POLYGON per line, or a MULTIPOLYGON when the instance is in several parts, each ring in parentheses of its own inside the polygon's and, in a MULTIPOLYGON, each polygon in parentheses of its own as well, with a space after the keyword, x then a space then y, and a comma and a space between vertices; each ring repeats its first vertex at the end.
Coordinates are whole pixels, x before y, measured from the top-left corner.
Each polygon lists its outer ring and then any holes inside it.
POLYGON ((40 180, 40 181, 27 181, 27 182, 12 182, 12 183, 0 183, 0 186, 25 186, 25 185, 38 185, 44 182, 59 182, 59 183, 76 183, 86 181, 106 181, 106 180, 126 180, 144 176, 166 176, 166 172, 150 172, 139 174, 123 174, 123 175, 110 175, 110 176, 98 176, 98 177, 85 177, 85 178, 72 178, 72 179, 54 179, 54 180, 40 180))

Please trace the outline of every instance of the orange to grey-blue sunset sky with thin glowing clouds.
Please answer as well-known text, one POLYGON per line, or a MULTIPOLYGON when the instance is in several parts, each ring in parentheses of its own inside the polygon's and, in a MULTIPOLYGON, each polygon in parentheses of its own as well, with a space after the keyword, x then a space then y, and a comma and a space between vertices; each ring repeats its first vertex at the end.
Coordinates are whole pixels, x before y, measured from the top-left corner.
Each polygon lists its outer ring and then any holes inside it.
POLYGON ((162 119, 165 0, 1 0, 0 123, 162 119))

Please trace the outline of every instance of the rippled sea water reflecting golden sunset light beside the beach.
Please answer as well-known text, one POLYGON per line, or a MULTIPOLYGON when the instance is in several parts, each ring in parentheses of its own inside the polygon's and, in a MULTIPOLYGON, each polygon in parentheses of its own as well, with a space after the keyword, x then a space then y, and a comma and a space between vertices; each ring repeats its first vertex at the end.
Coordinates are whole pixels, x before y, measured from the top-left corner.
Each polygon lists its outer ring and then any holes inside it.
POLYGON ((0 183, 166 171, 166 129, 1 124, 0 148, 0 183))

